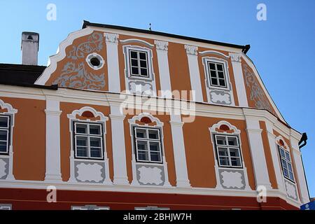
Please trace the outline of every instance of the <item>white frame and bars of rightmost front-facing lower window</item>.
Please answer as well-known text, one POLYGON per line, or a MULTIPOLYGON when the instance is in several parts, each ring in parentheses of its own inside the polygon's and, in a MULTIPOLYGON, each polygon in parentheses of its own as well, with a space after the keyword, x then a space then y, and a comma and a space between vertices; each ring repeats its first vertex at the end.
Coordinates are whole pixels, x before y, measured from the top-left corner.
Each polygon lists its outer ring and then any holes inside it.
POLYGON ((214 141, 215 141, 215 146, 216 146, 216 155, 218 157, 218 165, 219 167, 230 167, 230 168, 243 168, 243 160, 242 160, 242 155, 241 155, 241 147, 239 145, 239 137, 237 135, 232 135, 232 134, 214 134, 214 141), (225 141, 227 142, 227 145, 218 145, 218 142, 217 142, 217 137, 225 137, 225 141), (237 146, 229 146, 228 145, 228 137, 233 137, 237 140, 237 146), (223 156, 220 156, 219 154, 219 148, 226 148, 227 151, 228 151, 228 156, 224 156, 224 157, 228 157, 228 161, 230 163, 230 165, 221 165, 221 161, 220 161, 220 158, 223 157, 223 156), (230 155, 230 149, 237 149, 238 153, 239 153, 239 156, 236 157, 236 156, 232 156, 230 155), (235 165, 232 165, 232 160, 231 158, 239 158, 239 162, 241 163, 240 166, 235 166, 235 165))

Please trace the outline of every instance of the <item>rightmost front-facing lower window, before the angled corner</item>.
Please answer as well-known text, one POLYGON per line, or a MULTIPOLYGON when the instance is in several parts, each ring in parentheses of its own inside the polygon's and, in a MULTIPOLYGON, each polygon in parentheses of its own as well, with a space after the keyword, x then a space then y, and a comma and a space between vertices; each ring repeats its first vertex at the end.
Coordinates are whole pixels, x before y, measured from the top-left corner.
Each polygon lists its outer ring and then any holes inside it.
POLYGON ((214 135, 220 167, 242 167, 239 139, 232 135, 214 135))

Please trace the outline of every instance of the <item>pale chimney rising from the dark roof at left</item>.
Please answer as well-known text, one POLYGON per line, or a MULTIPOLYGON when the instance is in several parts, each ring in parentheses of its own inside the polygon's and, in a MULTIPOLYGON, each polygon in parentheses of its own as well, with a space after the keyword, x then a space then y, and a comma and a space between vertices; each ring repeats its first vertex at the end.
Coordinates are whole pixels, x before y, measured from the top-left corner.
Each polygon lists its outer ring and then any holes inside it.
POLYGON ((39 34, 22 32, 22 64, 37 65, 38 63, 39 34))

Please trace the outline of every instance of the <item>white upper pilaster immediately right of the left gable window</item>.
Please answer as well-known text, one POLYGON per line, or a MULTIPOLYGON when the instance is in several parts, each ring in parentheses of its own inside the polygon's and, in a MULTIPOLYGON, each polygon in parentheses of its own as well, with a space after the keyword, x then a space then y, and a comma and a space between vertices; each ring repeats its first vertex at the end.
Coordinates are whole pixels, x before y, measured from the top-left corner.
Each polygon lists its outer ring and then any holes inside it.
POLYGON ((156 52, 158 55, 158 66, 160 73, 161 97, 171 98, 172 87, 169 76, 169 58, 167 56, 168 45, 166 41, 154 41, 156 45, 156 52))

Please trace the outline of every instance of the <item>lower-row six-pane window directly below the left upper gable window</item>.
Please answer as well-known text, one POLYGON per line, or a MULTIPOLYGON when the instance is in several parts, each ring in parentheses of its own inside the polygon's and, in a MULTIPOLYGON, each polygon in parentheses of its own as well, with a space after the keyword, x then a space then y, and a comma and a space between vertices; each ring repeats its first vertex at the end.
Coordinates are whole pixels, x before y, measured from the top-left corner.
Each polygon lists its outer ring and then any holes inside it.
POLYGON ((138 162, 162 162, 160 130, 135 127, 134 141, 138 162))

